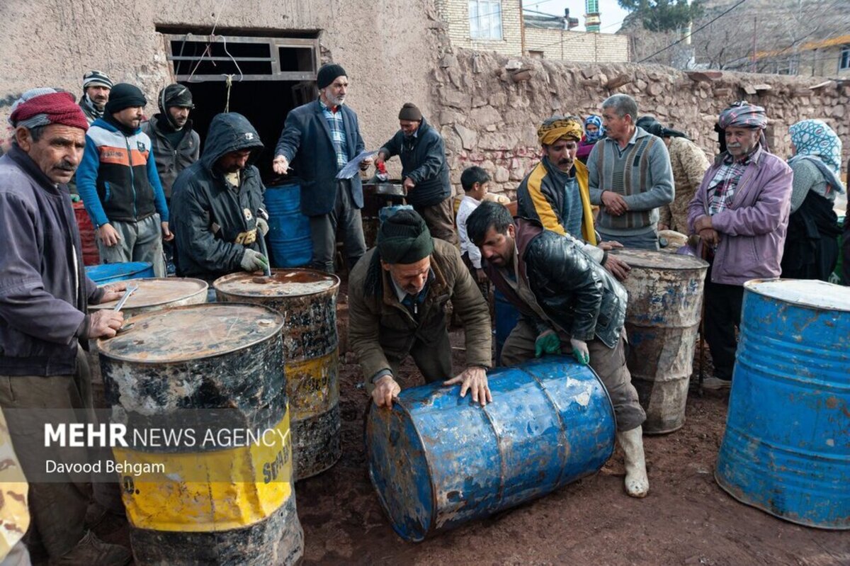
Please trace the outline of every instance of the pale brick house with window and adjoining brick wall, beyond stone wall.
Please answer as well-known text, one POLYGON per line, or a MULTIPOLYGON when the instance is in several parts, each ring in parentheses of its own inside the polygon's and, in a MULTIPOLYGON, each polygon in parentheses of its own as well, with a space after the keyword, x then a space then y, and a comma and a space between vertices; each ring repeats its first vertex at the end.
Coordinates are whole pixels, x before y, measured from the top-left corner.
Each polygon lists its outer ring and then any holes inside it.
POLYGON ((524 12, 522 4, 521 0, 437 0, 437 10, 456 47, 540 59, 629 60, 627 36, 572 31, 569 28, 577 21, 568 15, 524 12))

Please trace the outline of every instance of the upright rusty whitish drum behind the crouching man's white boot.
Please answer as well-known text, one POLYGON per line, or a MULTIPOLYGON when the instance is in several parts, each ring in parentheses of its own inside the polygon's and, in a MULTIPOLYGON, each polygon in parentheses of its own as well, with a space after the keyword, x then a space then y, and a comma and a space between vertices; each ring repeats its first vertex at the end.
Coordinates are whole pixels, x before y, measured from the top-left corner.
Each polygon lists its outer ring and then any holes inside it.
POLYGON ((615 253, 632 267, 623 282, 629 292, 626 365, 646 410, 643 432, 672 433, 685 423, 708 263, 648 250, 615 253))

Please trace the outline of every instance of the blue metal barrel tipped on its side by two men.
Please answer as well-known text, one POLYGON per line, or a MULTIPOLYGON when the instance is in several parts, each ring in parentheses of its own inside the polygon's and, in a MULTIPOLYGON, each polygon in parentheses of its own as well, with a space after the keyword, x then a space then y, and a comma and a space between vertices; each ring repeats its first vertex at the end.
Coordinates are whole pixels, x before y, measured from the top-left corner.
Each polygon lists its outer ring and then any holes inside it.
POLYGON ((392 410, 371 404, 369 476, 406 541, 546 495, 597 472, 614 450, 608 393, 571 358, 490 372, 484 408, 459 390, 431 383, 402 391, 392 410))

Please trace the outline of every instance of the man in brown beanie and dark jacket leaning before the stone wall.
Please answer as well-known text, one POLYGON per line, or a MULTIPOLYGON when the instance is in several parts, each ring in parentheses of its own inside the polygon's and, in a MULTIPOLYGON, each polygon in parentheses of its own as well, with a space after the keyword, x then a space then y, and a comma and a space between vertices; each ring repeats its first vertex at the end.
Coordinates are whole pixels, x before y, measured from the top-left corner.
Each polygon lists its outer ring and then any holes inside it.
POLYGON ((378 150, 375 161, 380 164, 400 156, 407 201, 425 219, 434 238, 456 245, 455 209, 443 139, 412 102, 401 107, 399 127, 378 150))

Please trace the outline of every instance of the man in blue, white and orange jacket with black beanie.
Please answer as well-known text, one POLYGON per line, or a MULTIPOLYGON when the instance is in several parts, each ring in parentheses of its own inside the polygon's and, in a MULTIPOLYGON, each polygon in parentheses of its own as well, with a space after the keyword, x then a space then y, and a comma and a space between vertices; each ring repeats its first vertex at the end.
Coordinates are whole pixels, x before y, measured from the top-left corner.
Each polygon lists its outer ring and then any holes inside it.
POLYGON ((86 133, 77 190, 97 229, 100 261, 150 262, 165 277, 162 240, 174 236, 150 137, 140 127, 147 103, 132 84, 112 88, 104 116, 86 133))

